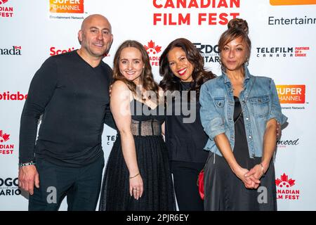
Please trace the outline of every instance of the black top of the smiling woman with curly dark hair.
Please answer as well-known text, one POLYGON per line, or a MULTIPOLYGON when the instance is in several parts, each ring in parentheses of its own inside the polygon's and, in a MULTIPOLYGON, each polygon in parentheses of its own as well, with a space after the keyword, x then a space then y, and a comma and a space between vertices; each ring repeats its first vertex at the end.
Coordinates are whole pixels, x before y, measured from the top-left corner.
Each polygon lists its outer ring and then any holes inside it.
MULTIPOLYGON (((192 82, 181 82, 180 91, 190 89, 192 82)), ((187 103, 184 101, 183 103, 187 103)), ((172 101, 172 115, 166 115, 165 137, 166 146, 169 150, 170 160, 182 162, 206 162, 209 152, 204 150, 209 137, 204 132, 201 124, 199 109, 201 105, 197 99, 195 105, 195 121, 192 123, 183 123, 183 118, 190 117, 183 115, 181 95, 180 115, 176 115, 176 103, 172 101)), ((189 104, 190 105, 190 104, 189 104)), ((170 105, 167 105, 169 107, 170 105)), ((177 105, 178 106, 178 105, 177 105)), ((185 108, 190 108, 185 105, 185 108)), ((179 113, 178 113, 179 114, 179 113)))

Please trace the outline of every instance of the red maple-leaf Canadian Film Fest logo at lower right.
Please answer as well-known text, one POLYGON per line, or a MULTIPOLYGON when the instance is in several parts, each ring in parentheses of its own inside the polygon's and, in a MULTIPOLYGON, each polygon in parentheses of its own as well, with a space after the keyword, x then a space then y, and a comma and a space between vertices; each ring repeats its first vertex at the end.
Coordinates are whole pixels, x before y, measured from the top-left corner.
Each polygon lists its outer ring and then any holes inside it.
POLYGON ((295 185, 294 179, 289 179, 287 174, 283 173, 280 178, 275 180, 277 185, 277 199, 282 200, 298 200, 300 190, 292 188, 295 185))

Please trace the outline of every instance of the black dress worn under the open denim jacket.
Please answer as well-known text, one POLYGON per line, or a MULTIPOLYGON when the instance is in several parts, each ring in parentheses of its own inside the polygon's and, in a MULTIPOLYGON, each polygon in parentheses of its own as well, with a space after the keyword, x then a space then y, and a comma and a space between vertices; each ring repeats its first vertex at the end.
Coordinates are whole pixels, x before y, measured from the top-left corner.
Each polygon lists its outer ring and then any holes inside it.
MULTIPOLYGON (((250 158, 244 128, 244 117, 239 98, 234 96, 235 147, 234 155, 238 164, 251 169, 261 162, 260 158, 250 158), (240 115, 240 116, 239 116, 240 115)), ((247 189, 232 172, 225 158, 210 153, 204 176, 204 210, 277 210, 275 188, 275 167, 270 167, 261 178, 258 189, 247 189)))

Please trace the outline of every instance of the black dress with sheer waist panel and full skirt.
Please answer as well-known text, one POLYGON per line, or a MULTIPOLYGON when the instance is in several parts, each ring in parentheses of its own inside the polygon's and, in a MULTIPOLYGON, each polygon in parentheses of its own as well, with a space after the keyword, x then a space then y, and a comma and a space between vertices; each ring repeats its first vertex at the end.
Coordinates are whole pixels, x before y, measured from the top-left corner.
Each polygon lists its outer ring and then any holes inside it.
POLYGON ((131 131, 136 146, 138 169, 143 179, 143 196, 136 200, 129 194, 129 169, 124 161, 121 138, 118 135, 107 161, 99 210, 176 209, 168 151, 162 139, 164 115, 158 114, 160 107, 164 105, 150 109, 140 101, 131 101, 131 131), (147 113, 141 110, 138 115, 136 109, 138 112, 139 109, 146 109, 147 113))

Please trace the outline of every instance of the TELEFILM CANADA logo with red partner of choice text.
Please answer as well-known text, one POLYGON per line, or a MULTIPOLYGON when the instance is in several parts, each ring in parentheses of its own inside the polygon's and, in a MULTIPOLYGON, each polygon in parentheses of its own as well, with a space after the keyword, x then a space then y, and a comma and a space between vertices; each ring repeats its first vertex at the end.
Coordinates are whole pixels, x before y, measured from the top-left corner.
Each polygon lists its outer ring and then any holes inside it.
POLYGON ((277 46, 277 47, 257 47, 256 56, 258 58, 291 58, 306 57, 309 46, 277 46))

